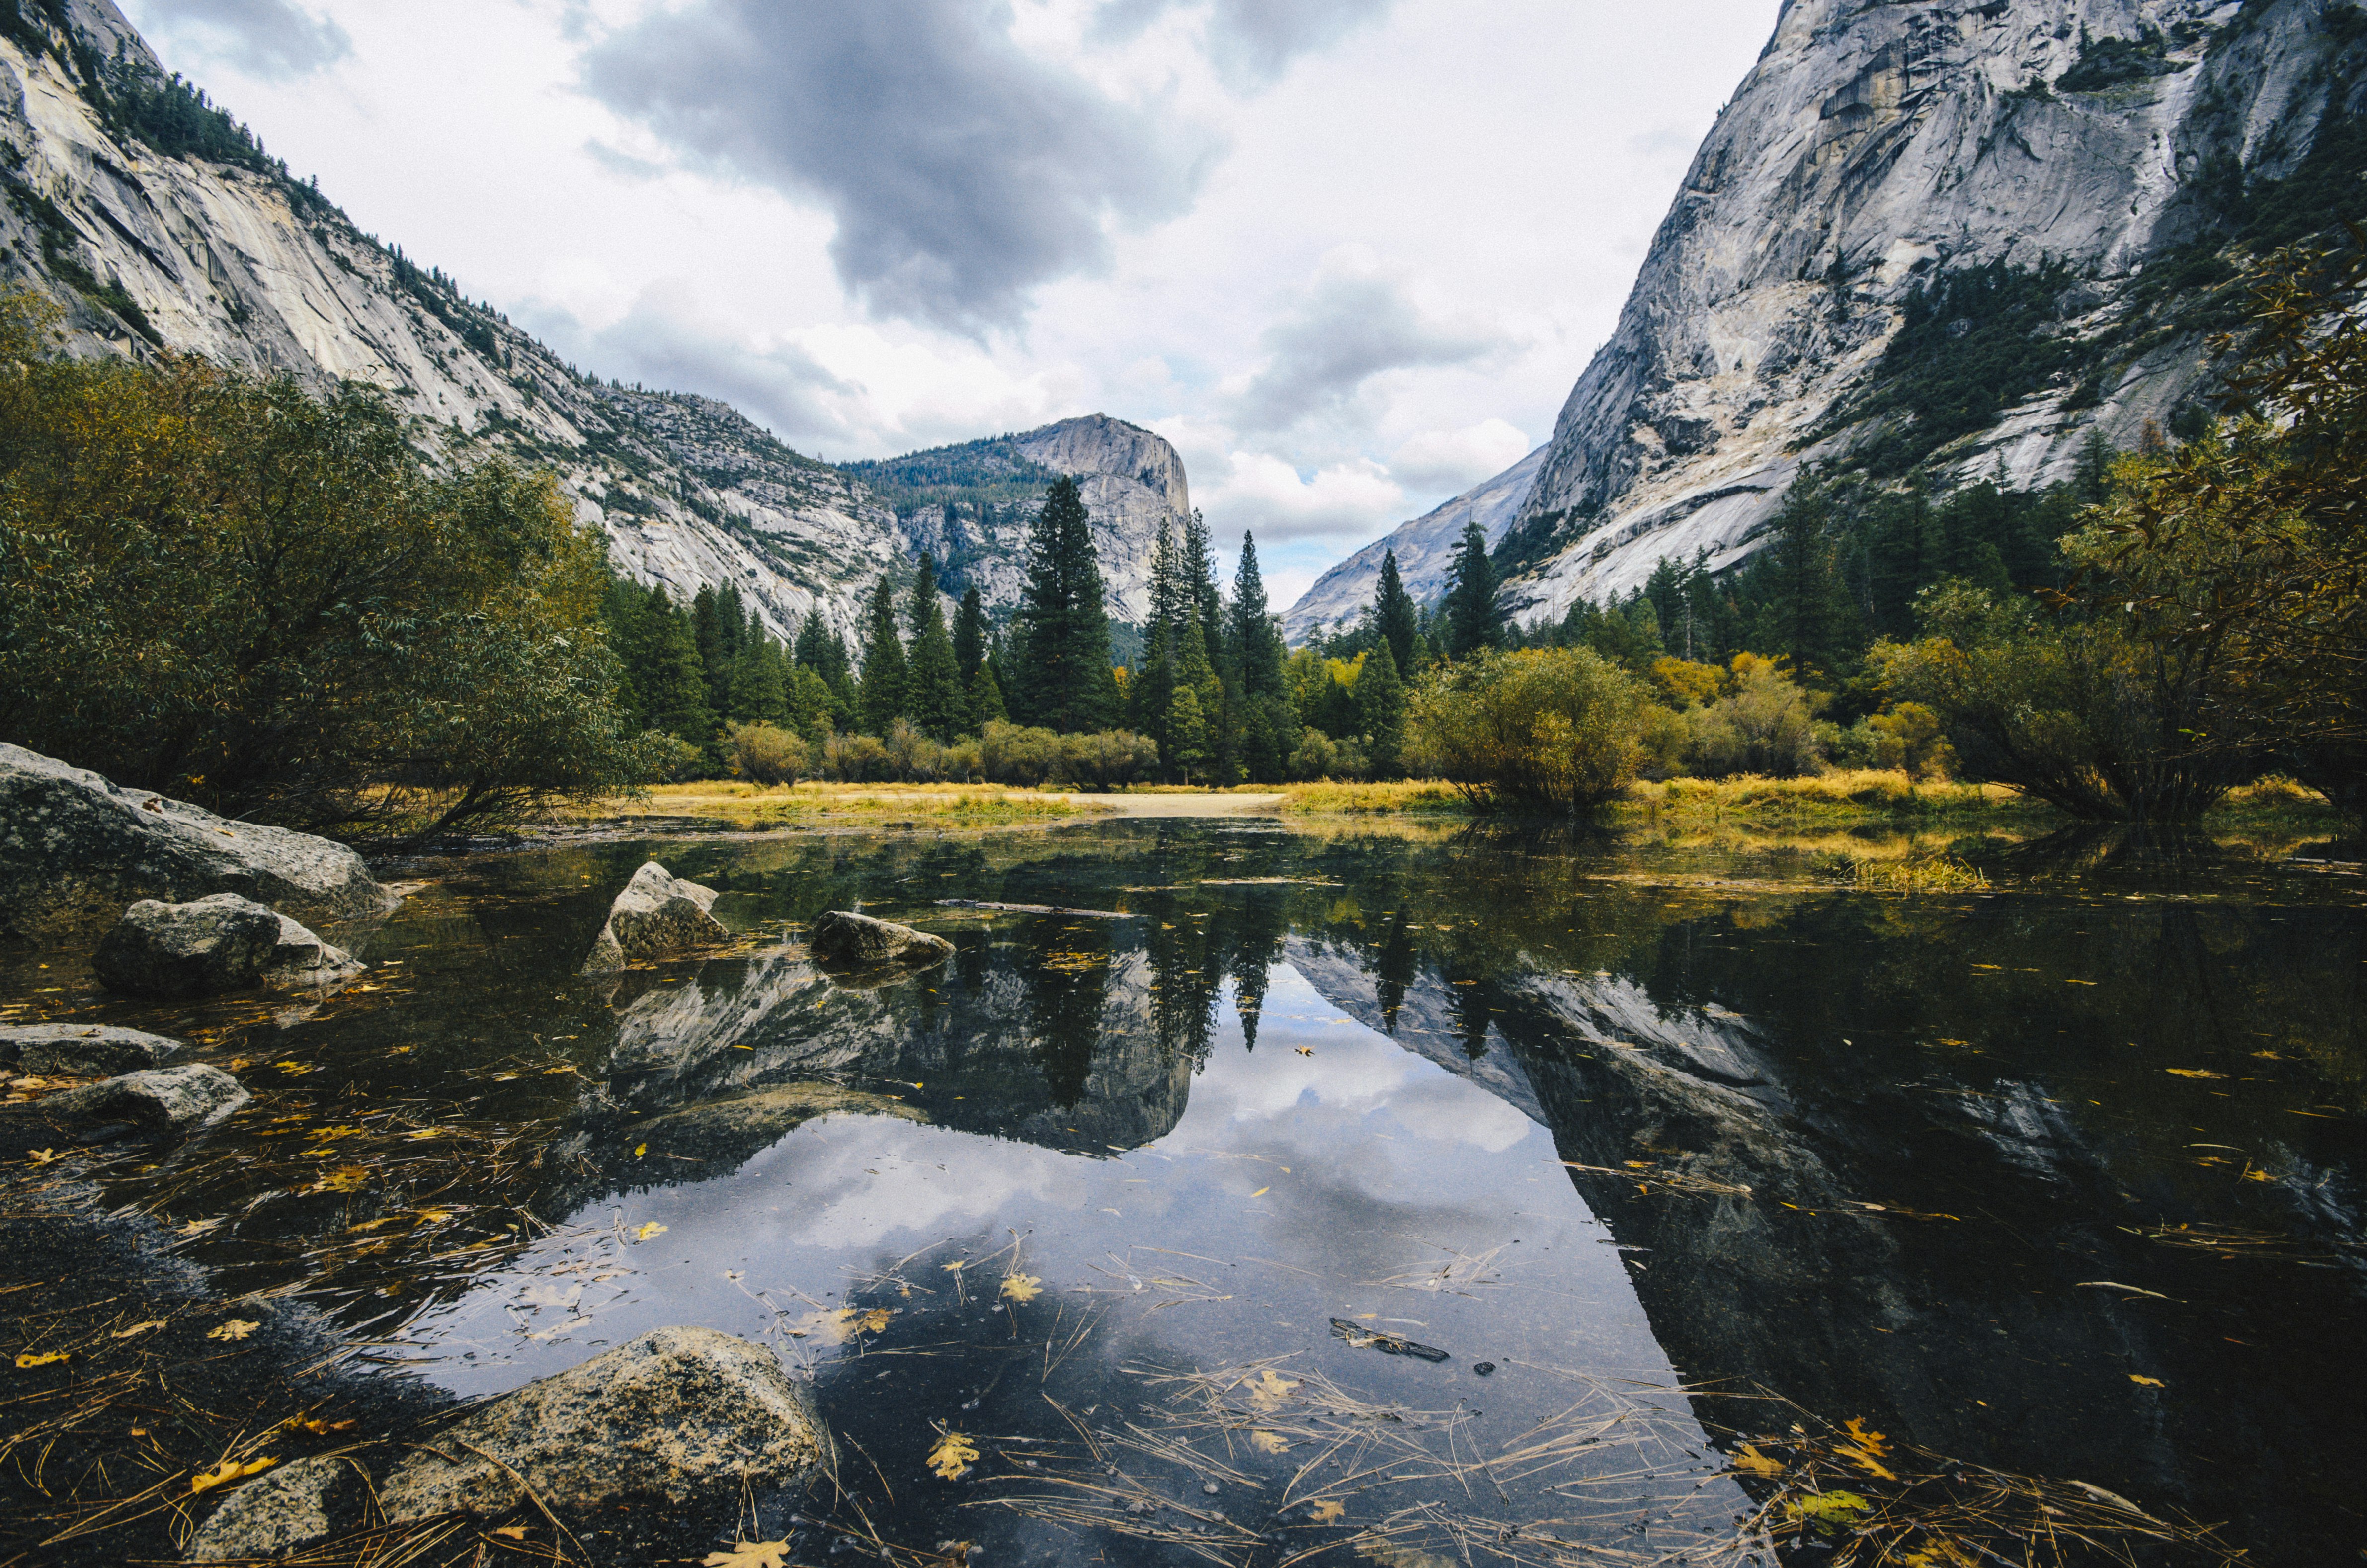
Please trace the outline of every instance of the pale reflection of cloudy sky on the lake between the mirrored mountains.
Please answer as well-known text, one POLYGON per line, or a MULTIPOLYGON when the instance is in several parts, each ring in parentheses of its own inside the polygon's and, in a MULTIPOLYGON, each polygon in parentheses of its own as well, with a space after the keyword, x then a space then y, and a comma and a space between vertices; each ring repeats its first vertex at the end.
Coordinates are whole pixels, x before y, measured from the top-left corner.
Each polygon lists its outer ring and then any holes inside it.
MULTIPOLYGON (((772 1336, 800 1357, 805 1345, 781 1334, 810 1312, 798 1293, 831 1303, 907 1253, 992 1253, 1018 1232, 1044 1305, 1079 1286, 1101 1293, 1089 1303, 1117 1298, 1186 1364, 1302 1352, 1342 1379, 1432 1395, 1475 1388, 1479 1360, 1671 1376, 1543 1127, 1347 1018, 1288 966, 1271 976, 1255 1052, 1228 1004, 1219 1018, 1184 1120, 1146 1149, 1084 1158, 826 1116, 729 1175, 587 1206, 518 1267, 421 1317, 409 1343, 462 1393, 559 1371, 663 1324, 772 1336), (665 1229, 623 1241, 649 1225, 665 1229), (587 1258, 613 1262, 552 1274, 587 1258), (630 1272, 601 1279, 613 1270, 630 1272), (760 1296, 783 1307, 779 1324, 760 1296), (1224 1300, 1191 1300, 1205 1296, 1224 1300), (1456 1360, 1356 1352, 1328 1317, 1456 1360)), ((1517 1397, 1503 1379, 1489 1390, 1517 1397)))

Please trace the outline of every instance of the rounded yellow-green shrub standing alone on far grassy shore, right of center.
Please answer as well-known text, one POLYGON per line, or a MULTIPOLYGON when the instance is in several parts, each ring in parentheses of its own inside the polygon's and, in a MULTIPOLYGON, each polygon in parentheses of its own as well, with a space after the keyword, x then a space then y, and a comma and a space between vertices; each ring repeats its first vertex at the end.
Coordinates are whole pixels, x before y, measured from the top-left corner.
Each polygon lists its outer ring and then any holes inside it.
POLYGON ((1413 751, 1475 805, 1581 812, 1643 763, 1640 680, 1593 649, 1479 651, 1411 708, 1413 751))

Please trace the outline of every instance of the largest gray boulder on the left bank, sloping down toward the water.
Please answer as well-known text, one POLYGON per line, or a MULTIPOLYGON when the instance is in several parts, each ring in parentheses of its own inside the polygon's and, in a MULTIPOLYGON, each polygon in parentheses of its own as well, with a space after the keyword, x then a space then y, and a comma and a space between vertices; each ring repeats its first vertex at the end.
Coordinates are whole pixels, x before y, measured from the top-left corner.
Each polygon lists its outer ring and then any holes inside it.
POLYGON ((398 902, 343 843, 230 822, 0 744, 0 931, 97 926, 140 898, 206 893, 244 893, 310 921, 398 902))

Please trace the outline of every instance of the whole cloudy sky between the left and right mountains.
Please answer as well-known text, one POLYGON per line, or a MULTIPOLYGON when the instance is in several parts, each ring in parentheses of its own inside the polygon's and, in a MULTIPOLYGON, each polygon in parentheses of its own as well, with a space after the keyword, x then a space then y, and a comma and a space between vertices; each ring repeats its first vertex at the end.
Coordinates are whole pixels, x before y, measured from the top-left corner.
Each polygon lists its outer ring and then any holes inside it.
POLYGON ((828 460, 1082 412, 1288 604, 1510 467, 1778 0, 121 0, 365 230, 828 460))

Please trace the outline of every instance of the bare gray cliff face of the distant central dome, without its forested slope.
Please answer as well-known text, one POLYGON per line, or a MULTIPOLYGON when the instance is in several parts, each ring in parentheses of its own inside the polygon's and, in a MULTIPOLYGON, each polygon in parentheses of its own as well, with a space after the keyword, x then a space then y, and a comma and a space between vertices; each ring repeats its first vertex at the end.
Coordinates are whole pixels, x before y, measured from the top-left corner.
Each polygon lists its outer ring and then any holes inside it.
MULTIPOLYGON (((1008 450, 1079 481, 1077 490, 1094 519, 1103 609, 1112 621, 1148 621, 1150 554, 1157 550, 1160 526, 1181 531, 1191 516, 1191 483, 1176 450, 1162 436, 1108 415, 1046 424, 1013 436, 1008 450)), ((897 521, 914 552, 928 550, 952 568, 947 580, 959 576, 989 606, 1001 606, 1018 604, 1027 583, 1027 528, 1037 509, 1039 502, 992 512, 956 502, 947 516, 942 505, 921 505, 904 509, 897 521)))

